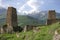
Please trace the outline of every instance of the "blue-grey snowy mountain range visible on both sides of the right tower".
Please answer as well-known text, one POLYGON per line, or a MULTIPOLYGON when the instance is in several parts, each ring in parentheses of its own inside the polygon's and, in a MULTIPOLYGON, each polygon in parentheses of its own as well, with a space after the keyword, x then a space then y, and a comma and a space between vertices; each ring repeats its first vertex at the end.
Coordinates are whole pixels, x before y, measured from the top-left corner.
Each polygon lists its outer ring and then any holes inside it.
MULTIPOLYGON (((46 20, 48 16, 48 11, 33 12, 28 14, 28 16, 36 18, 38 20, 46 20)), ((56 18, 60 19, 60 13, 56 12, 56 18)))

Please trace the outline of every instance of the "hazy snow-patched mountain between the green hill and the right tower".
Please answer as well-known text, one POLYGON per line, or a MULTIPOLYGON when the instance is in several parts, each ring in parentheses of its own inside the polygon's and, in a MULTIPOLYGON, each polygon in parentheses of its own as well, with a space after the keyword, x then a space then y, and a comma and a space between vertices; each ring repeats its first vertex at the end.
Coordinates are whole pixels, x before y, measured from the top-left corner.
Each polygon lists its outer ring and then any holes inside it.
POLYGON ((36 18, 38 20, 44 20, 47 18, 47 11, 40 11, 40 12, 33 12, 31 14, 28 14, 28 16, 31 16, 33 18, 36 18))

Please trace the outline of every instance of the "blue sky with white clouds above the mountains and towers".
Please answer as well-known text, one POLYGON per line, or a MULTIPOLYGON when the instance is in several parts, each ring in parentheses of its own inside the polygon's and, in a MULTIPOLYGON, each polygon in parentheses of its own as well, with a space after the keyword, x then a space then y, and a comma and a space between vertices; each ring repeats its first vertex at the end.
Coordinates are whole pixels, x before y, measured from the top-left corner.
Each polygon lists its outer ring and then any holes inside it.
POLYGON ((0 0, 0 7, 15 7, 17 12, 32 13, 46 10, 60 12, 60 0, 0 0))

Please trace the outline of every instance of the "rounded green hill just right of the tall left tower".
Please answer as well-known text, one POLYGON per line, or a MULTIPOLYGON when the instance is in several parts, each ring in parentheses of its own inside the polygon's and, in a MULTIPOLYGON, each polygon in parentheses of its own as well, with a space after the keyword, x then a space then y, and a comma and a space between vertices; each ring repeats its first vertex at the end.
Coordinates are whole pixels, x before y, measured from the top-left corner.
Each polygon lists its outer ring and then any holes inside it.
POLYGON ((18 24, 19 25, 37 25, 38 22, 36 19, 27 17, 27 16, 18 16, 18 24))

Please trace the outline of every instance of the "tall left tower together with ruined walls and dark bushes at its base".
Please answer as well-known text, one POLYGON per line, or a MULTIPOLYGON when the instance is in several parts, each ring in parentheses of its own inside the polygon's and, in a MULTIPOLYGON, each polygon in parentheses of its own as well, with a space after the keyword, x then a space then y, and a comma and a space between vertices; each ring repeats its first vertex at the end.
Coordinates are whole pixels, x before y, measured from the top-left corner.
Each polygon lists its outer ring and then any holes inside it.
POLYGON ((17 12, 14 7, 8 7, 6 16, 6 25, 3 25, 0 29, 0 33, 13 33, 21 31, 22 28, 18 26, 17 22, 17 12))

